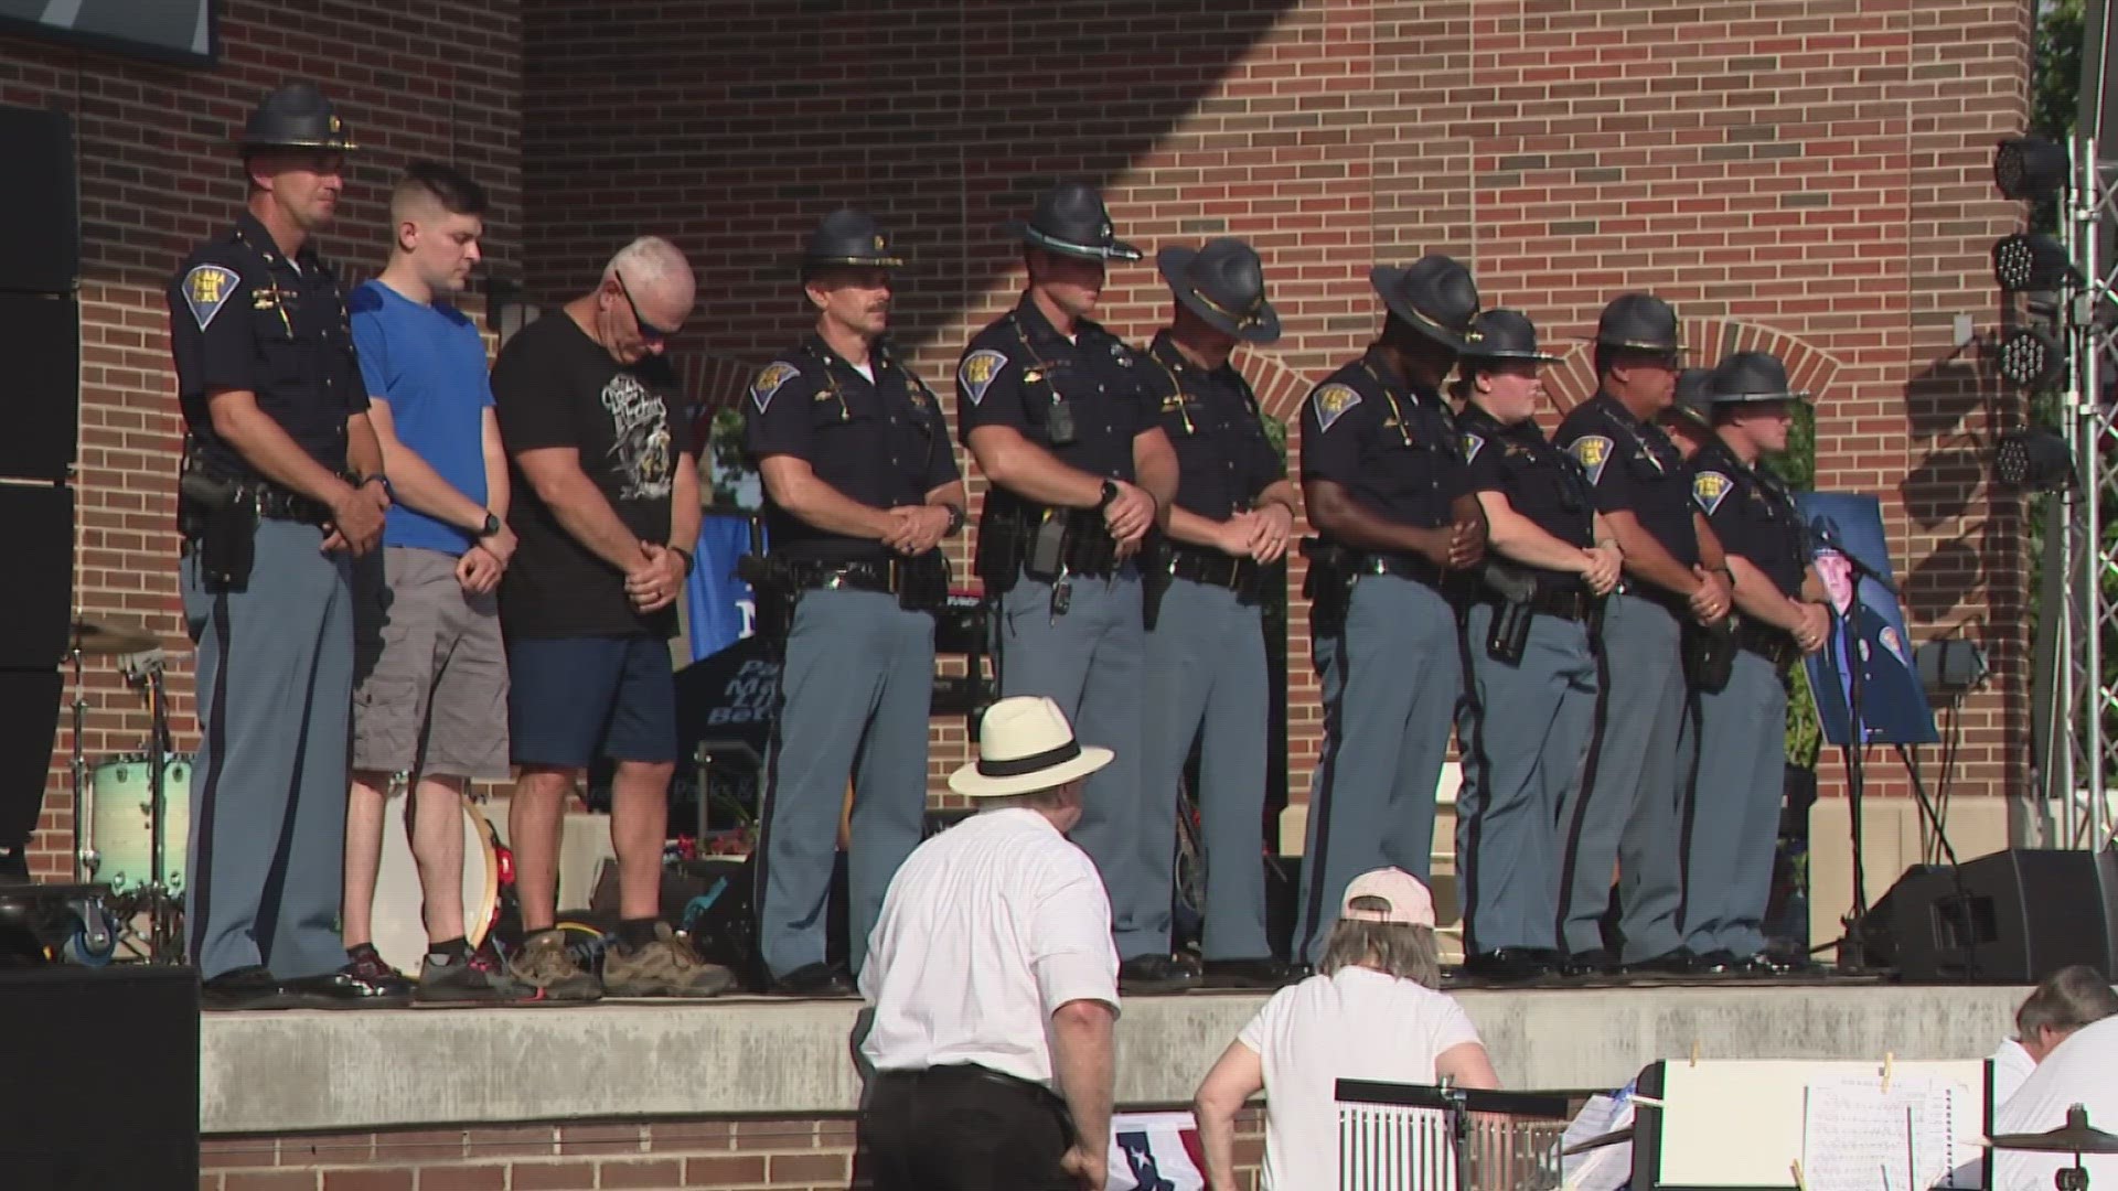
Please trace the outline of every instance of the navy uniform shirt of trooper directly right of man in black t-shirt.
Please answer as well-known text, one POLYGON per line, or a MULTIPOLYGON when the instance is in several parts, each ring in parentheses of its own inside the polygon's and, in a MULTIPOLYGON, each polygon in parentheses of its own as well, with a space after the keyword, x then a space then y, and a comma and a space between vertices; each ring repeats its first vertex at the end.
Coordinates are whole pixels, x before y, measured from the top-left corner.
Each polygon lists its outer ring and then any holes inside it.
MULTIPOLYGON (((818 479, 870 509, 926 504, 926 494, 959 473, 940 405, 926 381, 875 350, 875 379, 809 335, 750 381, 743 445, 752 458, 792 456, 818 479)), ((887 557, 873 538, 820 530, 765 494, 773 553, 826 562, 887 557)))

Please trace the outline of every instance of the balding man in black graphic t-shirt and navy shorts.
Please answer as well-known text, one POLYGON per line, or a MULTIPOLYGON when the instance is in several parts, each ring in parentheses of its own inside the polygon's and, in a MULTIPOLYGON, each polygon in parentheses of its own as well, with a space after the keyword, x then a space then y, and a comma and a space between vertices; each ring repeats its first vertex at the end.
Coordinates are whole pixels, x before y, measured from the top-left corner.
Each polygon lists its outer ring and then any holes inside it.
POLYGON ((493 362, 521 543, 500 583, 521 765, 508 843, 525 941, 513 966, 553 1000, 712 996, 733 979, 659 922, 676 771, 667 640, 699 538, 695 451, 669 415, 663 350, 695 284, 676 246, 635 239, 595 290, 525 326, 493 362), (597 754, 616 761, 618 854, 618 939, 602 981, 553 930, 566 793, 597 754))

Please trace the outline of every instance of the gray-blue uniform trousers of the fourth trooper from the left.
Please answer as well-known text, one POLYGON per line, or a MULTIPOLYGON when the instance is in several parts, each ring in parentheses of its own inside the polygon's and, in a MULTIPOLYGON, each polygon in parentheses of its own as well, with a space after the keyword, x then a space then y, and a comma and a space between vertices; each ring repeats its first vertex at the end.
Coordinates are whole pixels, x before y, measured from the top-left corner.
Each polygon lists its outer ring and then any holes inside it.
MULTIPOLYGON (((1175 799, 1199 740, 1207 960, 1273 954, 1264 939, 1264 612, 1235 591, 1173 579, 1148 634, 1142 740, 1139 907, 1131 920, 1169 949, 1175 799)), ((1125 918, 1125 909, 1112 909, 1125 918)))

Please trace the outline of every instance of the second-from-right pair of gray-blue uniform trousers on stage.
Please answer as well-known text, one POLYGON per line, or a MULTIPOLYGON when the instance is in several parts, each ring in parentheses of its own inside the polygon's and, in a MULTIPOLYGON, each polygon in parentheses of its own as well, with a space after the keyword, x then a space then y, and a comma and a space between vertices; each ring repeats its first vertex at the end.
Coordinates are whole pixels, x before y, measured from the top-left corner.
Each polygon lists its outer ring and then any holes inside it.
POLYGON ((1690 774, 1684 731, 1684 661, 1675 615, 1654 600, 1612 596, 1603 612, 1603 695, 1582 778, 1559 805, 1559 945, 1603 945, 1618 865, 1625 962, 1652 960, 1684 943, 1680 801, 1690 774))

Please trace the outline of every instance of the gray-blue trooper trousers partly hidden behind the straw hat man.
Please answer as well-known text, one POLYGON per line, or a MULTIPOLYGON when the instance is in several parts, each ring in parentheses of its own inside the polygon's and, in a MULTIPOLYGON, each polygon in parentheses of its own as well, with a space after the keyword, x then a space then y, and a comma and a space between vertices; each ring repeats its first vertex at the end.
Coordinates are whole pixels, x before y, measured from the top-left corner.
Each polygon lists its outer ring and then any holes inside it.
MULTIPOLYGON (((1059 704, 1074 737, 1116 752, 1089 776, 1080 822, 1070 837, 1095 860, 1112 907, 1112 941, 1120 960, 1169 954, 1169 890, 1154 922, 1139 920, 1150 903, 1142 871, 1139 831, 1139 685, 1146 629, 1139 625, 1139 570, 1131 564, 1112 579, 1076 574, 1067 581, 1067 612, 1053 617, 1053 585, 1023 574, 1000 598, 1000 693, 1044 695, 1059 704)), ((1169 803, 1161 814, 1175 814, 1169 803)))

